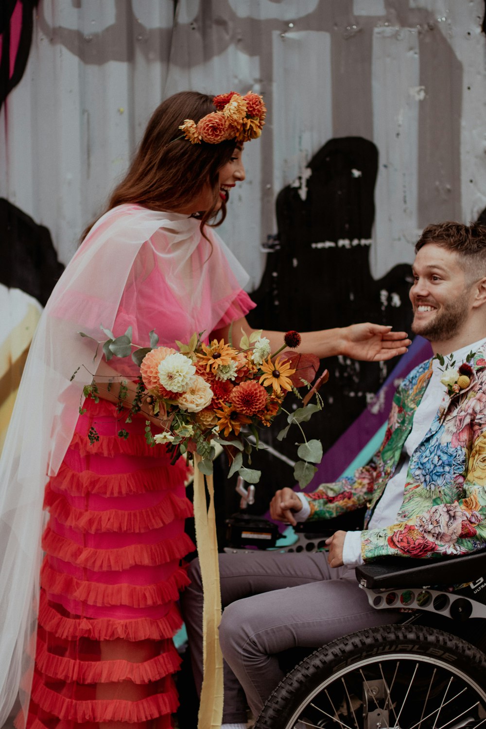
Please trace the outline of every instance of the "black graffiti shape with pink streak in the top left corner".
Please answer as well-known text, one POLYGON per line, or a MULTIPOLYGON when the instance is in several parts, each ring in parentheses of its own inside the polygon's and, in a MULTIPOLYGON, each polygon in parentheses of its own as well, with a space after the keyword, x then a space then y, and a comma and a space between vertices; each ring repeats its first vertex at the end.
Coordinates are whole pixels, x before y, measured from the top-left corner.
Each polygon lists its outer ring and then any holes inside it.
POLYGON ((23 77, 26 70, 29 51, 32 42, 32 15, 39 0, 2 0, 0 4, 0 109, 12 88, 23 77), (17 1, 22 5, 22 28, 20 40, 15 54, 15 61, 10 75, 10 20, 17 1))

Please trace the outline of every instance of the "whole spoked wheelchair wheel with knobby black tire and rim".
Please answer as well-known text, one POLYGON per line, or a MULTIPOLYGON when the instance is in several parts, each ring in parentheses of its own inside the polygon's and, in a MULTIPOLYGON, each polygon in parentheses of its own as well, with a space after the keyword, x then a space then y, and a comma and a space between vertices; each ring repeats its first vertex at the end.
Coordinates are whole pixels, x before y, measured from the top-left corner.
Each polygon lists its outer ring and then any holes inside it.
POLYGON ((423 625, 358 631, 276 687, 254 729, 486 729, 486 656, 423 625))

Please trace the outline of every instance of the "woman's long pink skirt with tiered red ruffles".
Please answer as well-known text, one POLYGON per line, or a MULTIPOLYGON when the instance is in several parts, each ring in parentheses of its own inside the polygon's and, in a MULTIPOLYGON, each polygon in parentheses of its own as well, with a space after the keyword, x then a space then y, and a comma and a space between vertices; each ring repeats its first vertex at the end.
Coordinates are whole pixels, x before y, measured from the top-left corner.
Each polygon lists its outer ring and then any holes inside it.
MULTIPOLYGON (((36 668, 28 729, 165 729, 178 698, 173 635, 187 585, 187 467, 150 448, 145 420, 120 426, 87 400, 47 483, 36 668), (90 445, 94 425, 100 439, 90 445), (117 437, 120 427, 130 432, 117 437)), ((17 719, 19 729, 23 720, 17 719)))

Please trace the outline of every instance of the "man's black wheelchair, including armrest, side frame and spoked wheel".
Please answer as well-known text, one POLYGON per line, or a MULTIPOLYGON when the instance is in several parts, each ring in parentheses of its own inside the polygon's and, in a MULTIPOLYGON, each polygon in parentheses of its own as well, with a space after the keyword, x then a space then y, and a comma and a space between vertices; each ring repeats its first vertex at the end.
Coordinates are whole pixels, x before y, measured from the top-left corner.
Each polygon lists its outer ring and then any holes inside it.
POLYGON ((399 608, 403 620, 313 652, 254 729, 486 729, 486 549, 388 558, 356 579, 373 607, 399 608))

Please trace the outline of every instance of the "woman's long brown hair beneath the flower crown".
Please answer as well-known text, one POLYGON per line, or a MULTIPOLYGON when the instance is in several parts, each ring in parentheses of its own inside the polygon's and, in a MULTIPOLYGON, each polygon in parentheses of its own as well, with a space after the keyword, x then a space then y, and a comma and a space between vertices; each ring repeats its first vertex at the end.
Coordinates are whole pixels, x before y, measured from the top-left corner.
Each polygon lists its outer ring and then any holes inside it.
MULTIPOLYGON (((151 210, 177 212, 197 198, 203 185, 210 184, 213 206, 200 215, 203 230, 205 223, 215 216, 214 206, 219 200, 218 172, 230 160, 235 141, 191 144, 181 139, 179 126, 185 119, 197 123, 214 111, 213 97, 196 91, 181 91, 162 101, 152 114, 128 173, 115 187, 106 211, 122 203, 138 203, 151 210)), ((226 217, 224 203, 220 212, 221 218, 213 225, 221 225, 226 217)))

